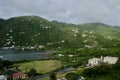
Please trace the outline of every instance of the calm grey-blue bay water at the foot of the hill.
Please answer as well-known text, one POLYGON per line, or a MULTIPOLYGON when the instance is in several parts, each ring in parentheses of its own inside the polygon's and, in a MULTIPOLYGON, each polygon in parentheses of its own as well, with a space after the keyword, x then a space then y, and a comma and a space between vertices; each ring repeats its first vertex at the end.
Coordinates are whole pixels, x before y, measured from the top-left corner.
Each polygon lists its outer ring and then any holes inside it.
POLYGON ((0 58, 10 61, 18 60, 37 60, 49 58, 49 54, 55 53, 55 51, 16 51, 16 50, 0 50, 0 58))

